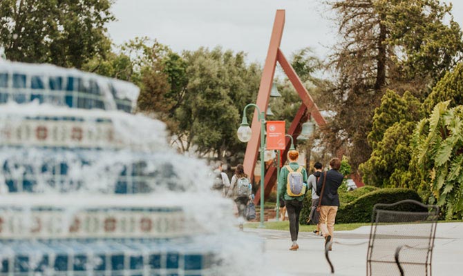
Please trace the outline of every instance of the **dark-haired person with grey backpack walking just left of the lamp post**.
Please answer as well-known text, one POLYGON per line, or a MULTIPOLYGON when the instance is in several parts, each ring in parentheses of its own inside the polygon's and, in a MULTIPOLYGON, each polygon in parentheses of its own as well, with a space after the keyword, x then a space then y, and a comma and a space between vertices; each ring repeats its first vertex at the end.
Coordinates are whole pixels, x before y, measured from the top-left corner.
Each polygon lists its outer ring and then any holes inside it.
POLYGON ((239 228, 243 230, 243 223, 246 219, 245 210, 247 202, 252 200, 251 181, 245 174, 245 168, 242 164, 236 166, 235 174, 231 177, 230 188, 227 197, 233 197, 236 207, 238 208, 238 217, 240 219, 239 228))

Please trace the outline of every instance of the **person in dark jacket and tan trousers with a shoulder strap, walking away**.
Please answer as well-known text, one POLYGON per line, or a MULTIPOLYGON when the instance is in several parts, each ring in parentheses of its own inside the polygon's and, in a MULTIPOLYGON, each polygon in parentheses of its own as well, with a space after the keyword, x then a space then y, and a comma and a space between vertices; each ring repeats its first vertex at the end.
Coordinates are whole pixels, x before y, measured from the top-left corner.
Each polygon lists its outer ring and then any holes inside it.
MULTIPOLYGON (((319 195, 320 228, 325 237, 325 246, 333 239, 334 222, 339 208, 338 188, 341 186, 344 176, 339 172, 341 160, 330 160, 330 170, 320 175, 316 184, 316 195, 319 195)), ((329 250, 332 250, 331 246, 329 250)))

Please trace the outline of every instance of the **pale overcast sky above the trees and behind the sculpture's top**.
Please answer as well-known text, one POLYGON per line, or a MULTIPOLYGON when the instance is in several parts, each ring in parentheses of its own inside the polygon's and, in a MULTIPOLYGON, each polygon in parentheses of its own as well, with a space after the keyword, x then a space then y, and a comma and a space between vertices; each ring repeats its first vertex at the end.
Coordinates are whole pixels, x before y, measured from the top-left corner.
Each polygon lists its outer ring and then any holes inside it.
MULTIPOLYGON (((463 1, 445 2, 454 2, 463 28, 463 1)), ((147 36, 176 52, 222 46, 263 63, 277 9, 286 10, 281 49, 287 57, 307 46, 322 59, 328 54, 337 30, 321 0, 116 0, 117 21, 108 32, 117 44, 147 36)))

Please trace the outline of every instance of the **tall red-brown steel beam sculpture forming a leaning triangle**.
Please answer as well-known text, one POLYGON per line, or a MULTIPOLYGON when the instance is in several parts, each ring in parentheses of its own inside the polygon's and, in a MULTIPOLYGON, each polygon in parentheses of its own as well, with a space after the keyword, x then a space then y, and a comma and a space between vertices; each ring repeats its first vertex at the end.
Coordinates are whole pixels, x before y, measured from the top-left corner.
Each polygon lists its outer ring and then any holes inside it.
MULTIPOLYGON (((301 79, 299 79, 296 71, 292 68, 291 64, 287 61, 283 52, 280 49, 281 37, 283 35, 283 28, 285 26, 285 10, 276 10, 274 26, 272 30, 272 37, 270 38, 270 45, 267 52, 267 58, 265 59, 265 65, 262 72, 261 85, 259 86, 259 91, 257 95, 256 105, 260 110, 267 110, 269 99, 270 99, 270 90, 272 89, 273 78, 275 74, 276 61, 280 63, 280 66, 283 68, 288 79, 290 79, 294 89, 301 97, 302 103, 299 108, 296 117, 292 121, 290 129, 287 134, 296 135, 301 132, 301 124, 307 121, 308 117, 312 117, 317 125, 323 126, 326 124, 325 119, 320 114, 319 108, 314 103, 309 92, 303 86, 301 79)), ((254 178, 254 167, 256 166, 256 161, 258 157, 259 143, 261 139, 261 123, 258 121, 257 110, 254 110, 254 117, 252 119, 252 137, 249 142, 247 142, 246 152, 245 152, 245 161, 243 166, 245 167, 245 172, 247 175, 253 179, 254 178)), ((294 138, 294 137, 293 137, 294 138)), ((286 149, 282 152, 281 162, 284 164, 286 161, 286 152, 290 147, 290 138, 286 138, 286 149)), ((262 177, 262 176, 261 176, 262 177)), ((274 184, 276 182, 276 168, 270 166, 265 172, 264 179, 264 196, 267 197, 270 194, 274 184)), ((256 197, 254 197, 254 203, 257 204, 261 199, 260 187, 256 192, 256 197)))

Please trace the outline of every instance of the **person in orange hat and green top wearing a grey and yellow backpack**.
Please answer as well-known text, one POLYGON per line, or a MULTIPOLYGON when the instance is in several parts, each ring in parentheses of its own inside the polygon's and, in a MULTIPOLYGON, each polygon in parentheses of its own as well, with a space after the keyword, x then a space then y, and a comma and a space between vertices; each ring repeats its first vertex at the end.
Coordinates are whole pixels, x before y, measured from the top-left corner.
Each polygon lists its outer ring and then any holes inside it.
POLYGON ((287 152, 287 159, 290 164, 283 166, 280 171, 281 190, 283 195, 288 219, 290 219, 290 234, 292 246, 290 250, 298 250, 297 236, 299 234, 299 215, 302 210, 302 203, 307 191, 307 171, 299 166, 297 159, 299 152, 290 150, 287 152))

